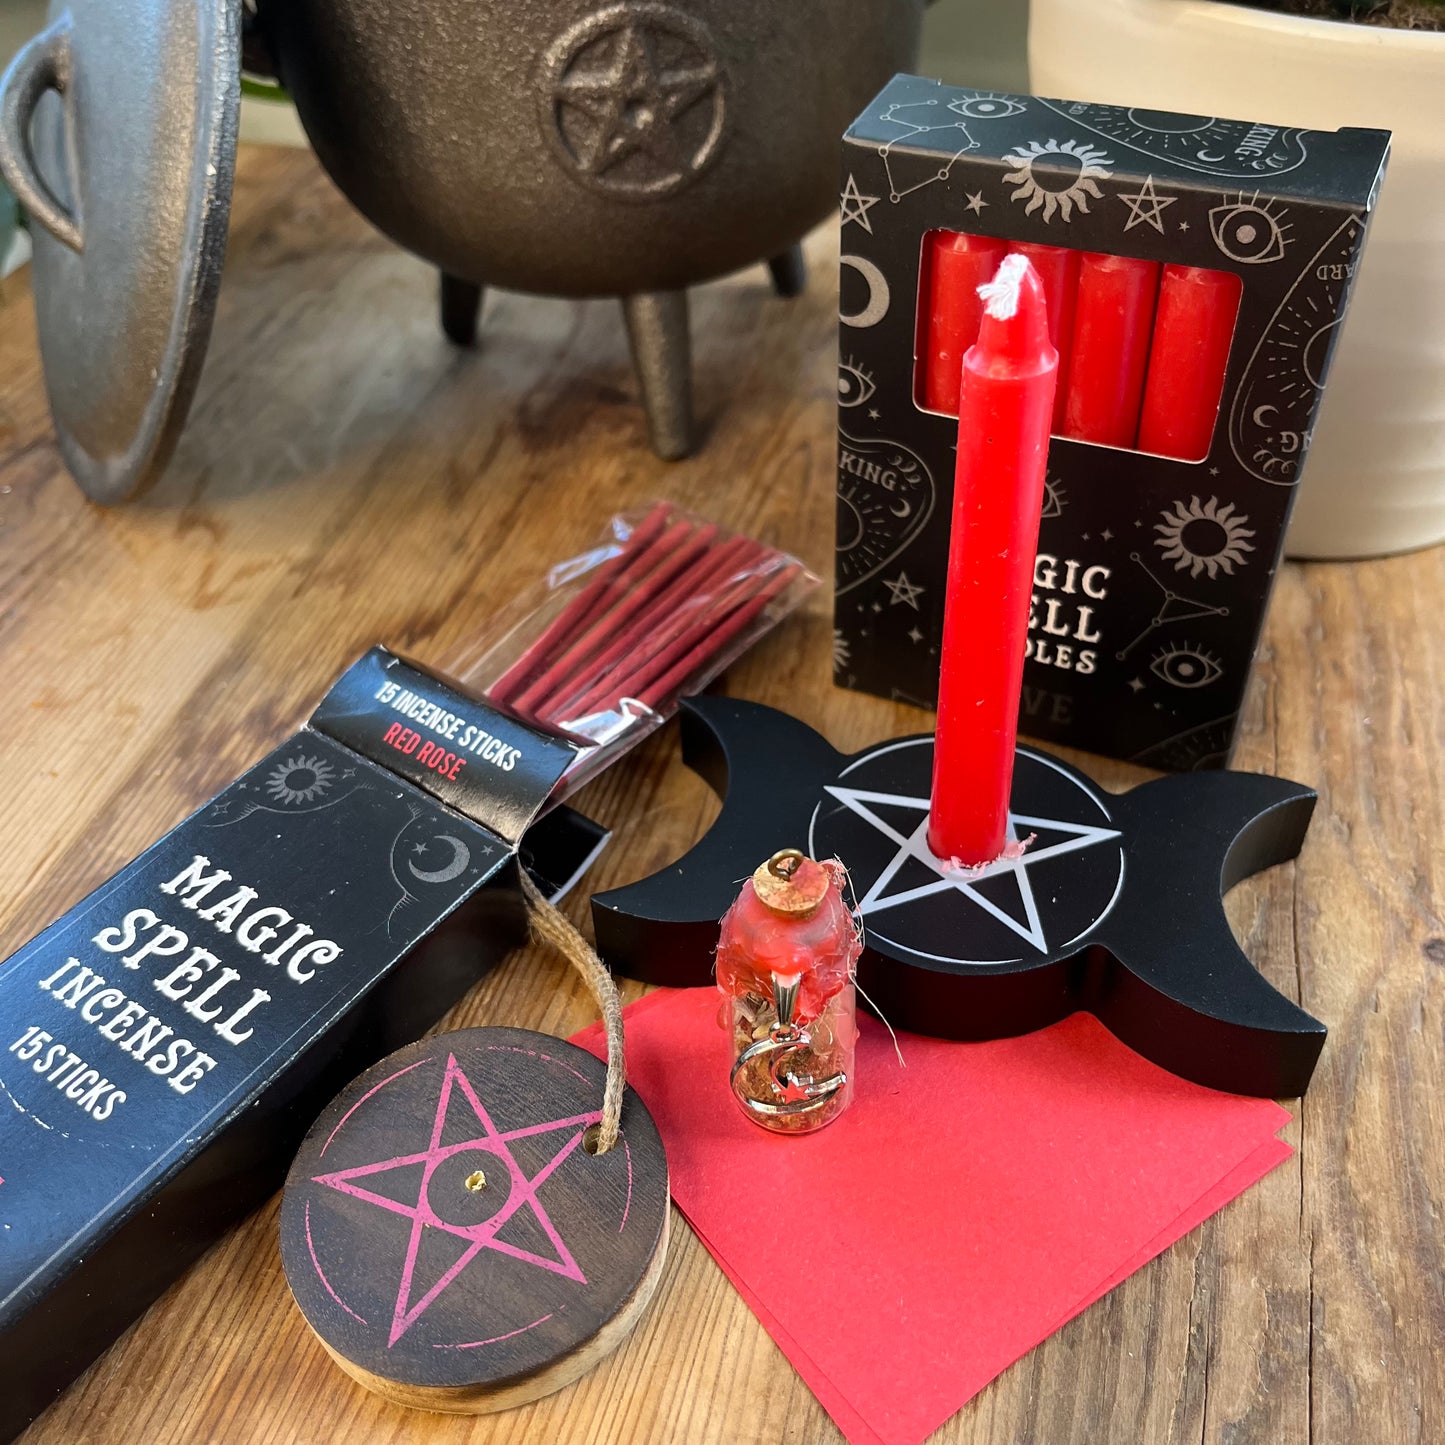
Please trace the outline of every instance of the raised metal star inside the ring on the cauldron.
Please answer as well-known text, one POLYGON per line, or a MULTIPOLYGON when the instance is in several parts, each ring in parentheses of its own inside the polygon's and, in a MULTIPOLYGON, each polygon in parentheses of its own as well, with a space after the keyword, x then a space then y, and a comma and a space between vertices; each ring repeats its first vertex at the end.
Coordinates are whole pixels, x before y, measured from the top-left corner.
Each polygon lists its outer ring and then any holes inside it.
POLYGON ((682 172, 689 158, 675 121, 717 87, 715 64, 665 66, 646 26, 627 25, 610 65, 568 75, 556 94, 597 123, 591 143, 577 158, 585 173, 604 175, 639 150, 665 171, 682 172))

